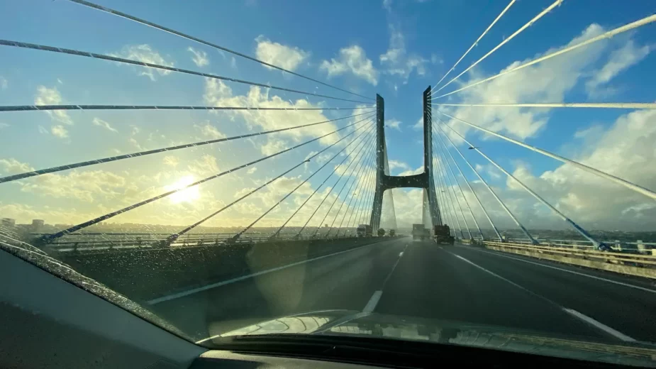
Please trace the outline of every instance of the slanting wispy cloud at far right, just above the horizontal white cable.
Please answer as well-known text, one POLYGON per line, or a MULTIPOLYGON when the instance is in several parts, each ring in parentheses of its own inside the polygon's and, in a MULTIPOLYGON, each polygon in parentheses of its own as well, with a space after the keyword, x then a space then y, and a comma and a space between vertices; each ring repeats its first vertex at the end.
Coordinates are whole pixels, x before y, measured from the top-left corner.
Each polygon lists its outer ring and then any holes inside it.
POLYGON ((586 82, 586 89, 592 96, 596 93, 596 89, 611 81, 614 77, 619 75, 629 67, 638 64, 652 51, 649 45, 638 47, 633 40, 623 45, 622 48, 613 50, 611 56, 608 57, 608 62, 600 70, 596 70, 592 78, 586 82))

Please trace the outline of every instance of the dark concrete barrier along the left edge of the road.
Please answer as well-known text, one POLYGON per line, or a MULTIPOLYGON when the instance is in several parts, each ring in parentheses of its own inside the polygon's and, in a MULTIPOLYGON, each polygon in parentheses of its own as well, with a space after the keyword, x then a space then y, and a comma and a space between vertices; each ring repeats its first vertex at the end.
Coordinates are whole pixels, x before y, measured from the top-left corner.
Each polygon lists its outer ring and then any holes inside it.
POLYGON ((389 238, 272 241, 230 246, 60 253, 77 272, 137 302, 389 238))

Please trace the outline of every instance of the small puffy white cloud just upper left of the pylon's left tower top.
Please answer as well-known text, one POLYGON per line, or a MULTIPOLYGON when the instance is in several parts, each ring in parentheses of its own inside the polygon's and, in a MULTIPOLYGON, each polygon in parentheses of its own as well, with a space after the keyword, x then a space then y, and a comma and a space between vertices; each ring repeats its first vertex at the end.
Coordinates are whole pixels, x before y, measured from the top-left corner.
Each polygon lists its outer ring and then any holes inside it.
POLYGON ((365 50, 358 45, 342 48, 337 59, 333 58, 330 62, 323 60, 319 69, 326 71, 328 77, 350 73, 374 86, 378 84, 378 71, 372 61, 367 58, 365 50))

